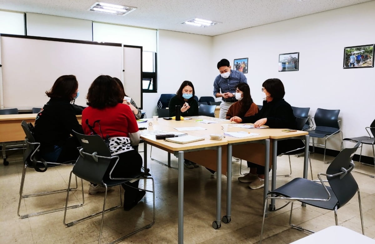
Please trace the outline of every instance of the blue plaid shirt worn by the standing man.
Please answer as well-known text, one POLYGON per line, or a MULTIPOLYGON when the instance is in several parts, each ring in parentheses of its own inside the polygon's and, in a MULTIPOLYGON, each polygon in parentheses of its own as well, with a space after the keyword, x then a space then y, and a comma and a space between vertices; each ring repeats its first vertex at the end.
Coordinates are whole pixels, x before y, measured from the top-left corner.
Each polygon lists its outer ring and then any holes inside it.
MULTIPOLYGON (((248 83, 246 76, 237 70, 231 70, 231 74, 228 78, 223 78, 221 75, 216 76, 213 82, 213 96, 216 97, 216 93, 235 93, 236 87, 240 83, 248 83), (221 90, 221 92, 220 92, 221 90)), ((222 98, 225 102, 236 102, 236 98, 230 97, 227 99, 222 98)))

